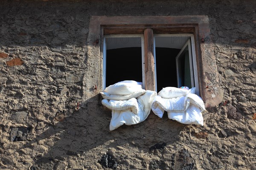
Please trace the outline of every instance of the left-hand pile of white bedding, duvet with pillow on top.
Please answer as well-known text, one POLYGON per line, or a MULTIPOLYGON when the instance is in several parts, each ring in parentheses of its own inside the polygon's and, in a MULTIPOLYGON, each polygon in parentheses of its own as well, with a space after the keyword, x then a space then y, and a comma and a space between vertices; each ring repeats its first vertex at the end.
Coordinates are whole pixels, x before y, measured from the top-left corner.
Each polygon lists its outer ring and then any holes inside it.
POLYGON ((143 122, 151 111, 157 93, 145 91, 142 82, 125 80, 108 86, 102 95, 102 105, 112 110, 109 129, 143 122))

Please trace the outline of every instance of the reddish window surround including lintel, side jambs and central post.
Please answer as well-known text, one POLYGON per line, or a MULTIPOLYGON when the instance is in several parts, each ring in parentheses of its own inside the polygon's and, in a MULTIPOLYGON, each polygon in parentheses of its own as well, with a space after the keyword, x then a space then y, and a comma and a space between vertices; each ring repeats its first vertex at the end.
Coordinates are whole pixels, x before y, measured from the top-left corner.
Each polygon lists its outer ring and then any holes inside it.
MULTIPOLYGON (((87 62, 94 62, 93 66, 87 68, 87 73, 98 71, 97 76, 85 82, 84 79, 83 99, 89 99, 102 91, 102 76, 104 76, 103 65, 103 38, 105 34, 144 34, 145 55, 145 77, 147 79, 145 88, 154 90, 154 34, 194 34, 195 54, 198 69, 199 93, 202 99, 213 99, 218 97, 217 91, 207 91, 205 88, 211 78, 212 85, 218 88, 216 66, 212 65, 215 60, 212 48, 209 48, 209 19, 207 16, 92 16, 90 18, 88 34, 87 62), (209 51, 207 51, 209 48, 209 51), (202 56, 204 59, 202 59, 202 56), (209 62, 208 59, 211 59, 209 62), (98 62, 96 62, 98 61, 98 62), (207 70, 210 77, 206 77, 207 70), (98 85, 96 91, 91 91, 94 84, 98 85)), ((86 73, 86 76, 87 76, 86 73)), ((208 73, 207 73, 208 74, 208 73)))

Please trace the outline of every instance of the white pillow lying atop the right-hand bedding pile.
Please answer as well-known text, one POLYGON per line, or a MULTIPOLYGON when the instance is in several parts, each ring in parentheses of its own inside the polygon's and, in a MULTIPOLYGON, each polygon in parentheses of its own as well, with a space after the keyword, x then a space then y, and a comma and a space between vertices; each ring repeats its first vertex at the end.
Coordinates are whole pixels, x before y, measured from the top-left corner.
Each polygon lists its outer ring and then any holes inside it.
POLYGON ((175 87, 166 87, 166 88, 163 88, 157 95, 165 99, 172 99, 179 96, 186 96, 187 94, 190 94, 190 93, 195 94, 195 88, 186 90, 186 89, 175 88, 175 87))

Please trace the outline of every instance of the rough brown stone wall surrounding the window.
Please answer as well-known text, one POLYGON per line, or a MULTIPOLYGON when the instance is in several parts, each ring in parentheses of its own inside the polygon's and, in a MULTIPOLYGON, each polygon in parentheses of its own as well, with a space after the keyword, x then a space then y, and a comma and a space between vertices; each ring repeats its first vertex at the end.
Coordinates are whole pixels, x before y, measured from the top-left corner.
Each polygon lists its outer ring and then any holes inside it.
POLYGON ((0 169, 256 169, 255 8, 254 0, 2 0, 0 169), (97 74, 87 71, 93 15, 207 15, 224 99, 204 112, 205 125, 151 113, 109 131, 111 111, 99 95, 83 96, 97 74))

